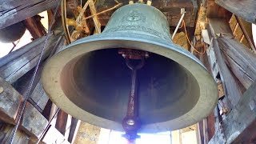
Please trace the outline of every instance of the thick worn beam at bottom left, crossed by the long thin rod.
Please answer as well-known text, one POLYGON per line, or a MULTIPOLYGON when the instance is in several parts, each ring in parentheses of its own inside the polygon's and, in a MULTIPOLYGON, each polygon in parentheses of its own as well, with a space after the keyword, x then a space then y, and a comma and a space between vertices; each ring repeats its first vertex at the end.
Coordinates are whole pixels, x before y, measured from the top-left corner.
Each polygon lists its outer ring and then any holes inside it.
MULTIPOLYGON (((18 111, 22 102, 22 96, 14 90, 6 81, 0 78, 0 118, 6 122, 15 124, 18 111)), ((37 139, 46 128, 48 121, 29 102, 26 103, 25 111, 22 115, 20 127, 31 139, 37 139)))

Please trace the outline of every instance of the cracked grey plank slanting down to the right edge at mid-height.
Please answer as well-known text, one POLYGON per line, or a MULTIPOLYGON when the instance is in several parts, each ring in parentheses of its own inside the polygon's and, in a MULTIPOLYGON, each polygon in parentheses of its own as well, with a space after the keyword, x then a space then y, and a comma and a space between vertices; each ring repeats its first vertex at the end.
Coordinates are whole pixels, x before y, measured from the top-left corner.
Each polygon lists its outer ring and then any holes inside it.
POLYGON ((248 89, 256 80, 256 54, 234 38, 223 36, 217 40, 231 70, 248 89))

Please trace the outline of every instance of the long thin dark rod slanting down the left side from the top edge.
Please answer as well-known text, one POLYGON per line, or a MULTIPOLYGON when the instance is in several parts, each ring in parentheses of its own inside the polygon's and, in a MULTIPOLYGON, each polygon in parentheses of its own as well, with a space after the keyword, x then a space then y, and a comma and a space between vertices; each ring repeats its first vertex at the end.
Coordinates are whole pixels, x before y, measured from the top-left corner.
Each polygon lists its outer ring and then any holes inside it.
POLYGON ((14 126, 13 133, 11 134, 10 144, 12 144, 12 143, 14 142, 15 134, 16 134, 16 132, 17 132, 17 130, 18 130, 19 123, 21 122, 21 119, 22 119, 22 114, 23 114, 23 112, 24 112, 24 110, 25 110, 25 107, 26 107, 26 102, 27 102, 27 100, 30 98, 30 91, 31 91, 31 88, 32 88, 33 83, 34 83, 34 78, 36 77, 36 74, 37 74, 37 72, 38 72, 38 67, 39 67, 39 65, 40 65, 40 63, 41 63, 42 54, 43 54, 44 51, 46 50, 46 44, 47 44, 48 39, 49 39, 49 36, 50 36, 50 30, 51 30, 51 27, 52 27, 52 25, 53 25, 53 23, 54 23, 54 18, 55 18, 55 16, 56 16, 57 12, 58 12, 58 6, 60 5, 60 2, 61 2, 61 0, 58 1, 57 8, 55 9, 53 18, 52 18, 52 20, 51 20, 51 22, 50 22, 50 26, 49 26, 49 29, 48 29, 49 32, 48 32, 48 34, 46 35, 46 40, 45 40, 44 45, 43 45, 43 47, 42 47, 40 56, 39 56, 39 58, 38 58, 37 66, 36 66, 35 69, 34 69, 34 74, 33 74, 32 78, 31 78, 30 86, 29 86, 28 89, 26 90, 26 94, 24 94, 24 101, 22 102, 21 110, 20 110, 20 112, 18 113, 18 118, 17 118, 16 125, 14 126))

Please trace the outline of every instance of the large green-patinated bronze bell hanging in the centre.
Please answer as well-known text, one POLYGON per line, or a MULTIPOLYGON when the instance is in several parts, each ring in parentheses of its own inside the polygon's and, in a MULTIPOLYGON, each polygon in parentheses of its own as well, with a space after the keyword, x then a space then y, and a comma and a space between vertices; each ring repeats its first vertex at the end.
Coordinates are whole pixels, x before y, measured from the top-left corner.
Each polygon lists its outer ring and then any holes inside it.
POLYGON ((118 52, 126 49, 149 54, 137 73, 138 132, 177 130, 214 109, 214 79, 198 58, 171 41, 164 14, 145 4, 122 6, 102 34, 79 39, 50 58, 42 73, 46 94, 75 118, 122 131, 131 72, 118 52))

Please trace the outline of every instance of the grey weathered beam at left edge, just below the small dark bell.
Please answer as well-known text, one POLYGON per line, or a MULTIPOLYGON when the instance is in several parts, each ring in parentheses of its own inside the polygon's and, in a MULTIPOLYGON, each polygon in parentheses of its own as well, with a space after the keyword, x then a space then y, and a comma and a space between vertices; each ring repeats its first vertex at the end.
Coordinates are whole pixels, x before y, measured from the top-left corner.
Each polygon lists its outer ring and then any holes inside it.
MULTIPOLYGON (((53 50, 59 37, 59 34, 50 34, 46 49, 42 55, 42 60, 50 54, 51 50, 53 50)), ((21 48, 25 50, 14 51, 15 54, 11 54, 12 58, 8 58, 8 55, 1 58, 0 63, 2 66, 0 67, 0 77, 6 79, 7 82, 13 83, 36 66, 45 39, 46 36, 43 36, 21 48)))

